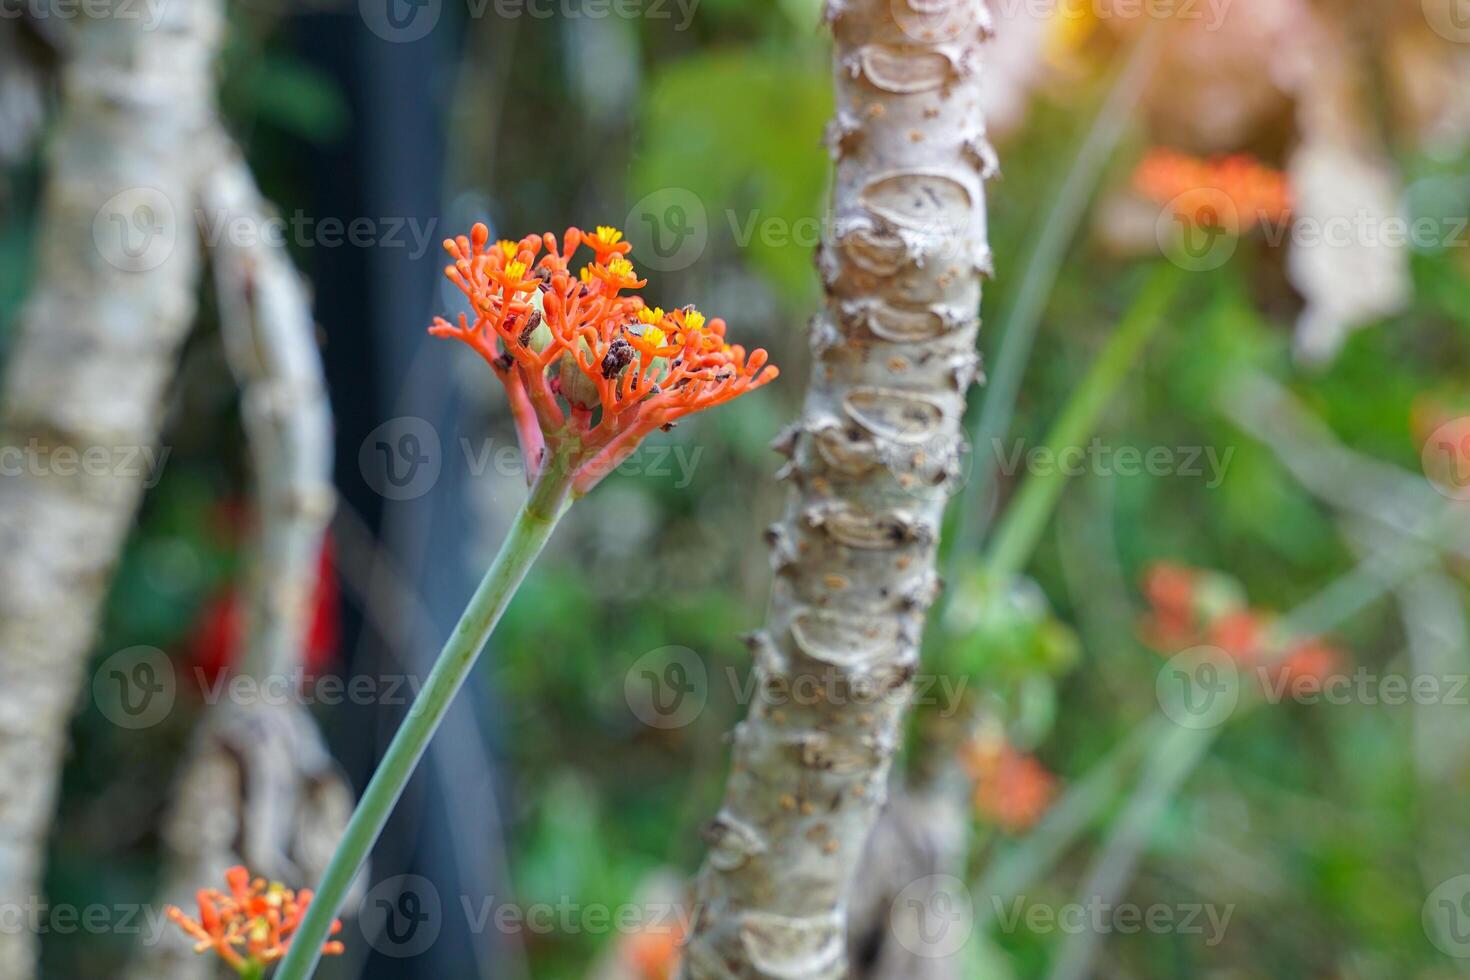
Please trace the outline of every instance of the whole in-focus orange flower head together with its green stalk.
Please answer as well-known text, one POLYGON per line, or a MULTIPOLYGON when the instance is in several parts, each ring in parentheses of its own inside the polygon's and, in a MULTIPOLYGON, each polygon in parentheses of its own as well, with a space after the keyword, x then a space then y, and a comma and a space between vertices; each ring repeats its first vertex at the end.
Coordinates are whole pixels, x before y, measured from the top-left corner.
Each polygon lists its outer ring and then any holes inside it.
POLYGON ((276 980, 312 974, 348 886, 566 508, 654 429, 778 373, 764 350, 747 354, 726 342, 723 320, 706 320, 694 307, 648 307, 634 292, 645 281, 617 229, 570 228, 560 242, 545 234, 491 244, 490 231, 475 225, 444 248, 454 260, 445 275, 472 313, 457 323, 438 319, 429 332, 469 344, 506 385, 531 492, 368 783, 276 980), (570 262, 584 244, 592 262, 573 275, 570 262))

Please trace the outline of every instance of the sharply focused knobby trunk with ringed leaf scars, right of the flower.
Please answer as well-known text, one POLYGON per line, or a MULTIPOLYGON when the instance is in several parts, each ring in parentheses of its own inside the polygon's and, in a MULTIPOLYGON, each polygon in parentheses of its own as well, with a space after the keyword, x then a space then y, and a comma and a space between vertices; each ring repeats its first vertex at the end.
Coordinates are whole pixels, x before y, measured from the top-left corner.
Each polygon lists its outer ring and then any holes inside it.
POLYGON ((935 547, 989 267, 979 0, 829 0, 836 37, 828 304, 813 323, 757 698, 685 949, 686 977, 847 973, 847 893, 938 592, 935 547))

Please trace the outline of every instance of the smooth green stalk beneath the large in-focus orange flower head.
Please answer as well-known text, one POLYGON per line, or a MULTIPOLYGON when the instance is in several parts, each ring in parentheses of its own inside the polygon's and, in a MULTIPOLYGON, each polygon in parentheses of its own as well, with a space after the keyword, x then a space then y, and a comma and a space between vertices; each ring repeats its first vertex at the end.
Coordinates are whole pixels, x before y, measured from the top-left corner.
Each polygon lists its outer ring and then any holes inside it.
POLYGON ((276 980, 306 980, 316 968, 322 958, 322 945, 328 939, 332 920, 341 912, 347 889, 382 835, 388 815, 398 804, 434 732, 444 721, 450 702, 475 667, 495 623, 500 621, 531 564, 551 538, 551 530, 569 502, 569 489, 570 478, 562 460, 548 464, 531 488, 531 497, 516 514, 510 533, 500 545, 500 554, 465 607, 459 624, 429 671, 423 692, 392 736, 378 771, 373 773, 368 790, 353 811, 306 920, 297 930, 285 959, 281 961, 276 980))

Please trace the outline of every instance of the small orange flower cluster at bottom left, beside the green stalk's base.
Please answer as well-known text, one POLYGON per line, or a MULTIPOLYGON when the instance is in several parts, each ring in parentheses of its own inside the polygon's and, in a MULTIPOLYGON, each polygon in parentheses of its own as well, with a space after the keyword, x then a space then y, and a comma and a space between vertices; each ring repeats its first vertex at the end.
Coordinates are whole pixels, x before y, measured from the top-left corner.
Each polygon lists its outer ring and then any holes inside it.
MULTIPOLYGON (((312 892, 293 892, 279 882, 266 883, 265 879, 251 880, 250 871, 243 867, 229 868, 225 882, 229 892, 200 890, 198 918, 190 918, 176 905, 165 911, 196 940, 194 952, 213 949, 235 973, 263 976, 268 965, 285 956, 291 934, 306 918, 312 892)), ((341 927, 341 921, 332 923, 332 934, 341 927)), ((322 952, 338 955, 343 943, 329 942, 322 952)))

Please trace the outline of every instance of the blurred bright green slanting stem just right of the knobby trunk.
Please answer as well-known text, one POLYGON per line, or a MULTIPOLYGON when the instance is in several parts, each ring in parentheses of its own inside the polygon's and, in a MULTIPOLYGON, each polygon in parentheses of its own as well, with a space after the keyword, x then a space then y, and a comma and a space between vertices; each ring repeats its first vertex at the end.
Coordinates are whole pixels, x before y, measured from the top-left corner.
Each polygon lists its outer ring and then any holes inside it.
MULTIPOLYGON (((1123 322, 1113 331, 1102 353, 1092 361, 1082 383, 1073 389, 1061 417, 1047 435, 1050 458, 1064 460, 1067 453, 1082 448, 1082 442, 1097 428, 1114 392, 1138 361, 1144 345, 1164 322, 1164 314, 1182 281, 1182 270, 1172 263, 1160 262, 1154 267, 1148 282, 1123 316, 1123 322)), ((1067 480, 1066 469, 1057 466, 1045 473, 1032 473, 1005 508, 991 538, 985 561, 986 570, 995 580, 1005 580, 1026 567, 1051 520, 1057 498, 1061 497, 1061 488, 1067 480)))

